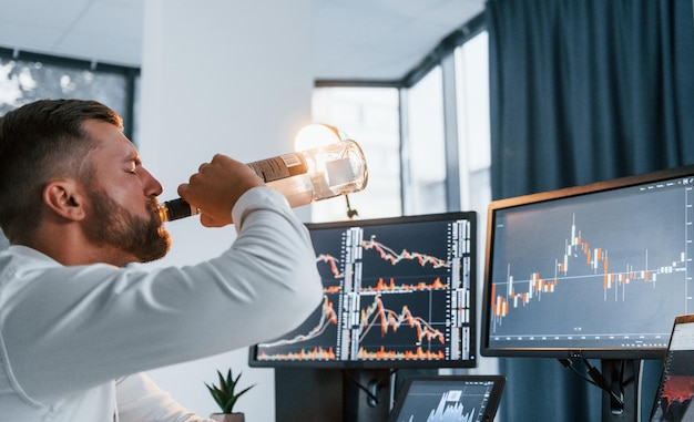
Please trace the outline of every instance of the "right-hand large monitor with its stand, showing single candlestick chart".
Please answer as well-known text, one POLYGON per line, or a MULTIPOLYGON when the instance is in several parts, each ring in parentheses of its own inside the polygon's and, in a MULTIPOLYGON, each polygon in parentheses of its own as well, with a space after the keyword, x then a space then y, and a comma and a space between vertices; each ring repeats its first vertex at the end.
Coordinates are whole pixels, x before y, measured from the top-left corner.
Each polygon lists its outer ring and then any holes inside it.
POLYGON ((642 360, 694 312, 694 166, 494 200, 487 223, 481 354, 599 359, 603 420, 637 412, 642 360))

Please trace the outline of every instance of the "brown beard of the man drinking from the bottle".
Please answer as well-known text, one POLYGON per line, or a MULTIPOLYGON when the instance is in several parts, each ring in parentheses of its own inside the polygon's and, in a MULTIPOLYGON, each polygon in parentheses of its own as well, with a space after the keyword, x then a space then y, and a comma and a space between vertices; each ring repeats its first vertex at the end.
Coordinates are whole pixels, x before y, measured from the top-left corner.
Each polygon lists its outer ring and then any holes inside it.
POLYGON ((150 219, 136 217, 103 191, 90 193, 92 214, 86 228, 90 240, 134 256, 139 263, 149 263, 169 253, 171 236, 156 214, 152 199, 150 219))

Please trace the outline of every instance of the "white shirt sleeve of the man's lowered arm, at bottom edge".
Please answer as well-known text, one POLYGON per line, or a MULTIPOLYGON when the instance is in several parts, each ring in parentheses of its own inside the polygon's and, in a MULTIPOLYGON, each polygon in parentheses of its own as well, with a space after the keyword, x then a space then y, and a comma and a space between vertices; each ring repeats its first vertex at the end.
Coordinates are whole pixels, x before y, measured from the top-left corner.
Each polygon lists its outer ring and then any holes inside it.
POLYGON ((183 408, 142 372, 118 379, 115 394, 120 422, 214 422, 183 408))

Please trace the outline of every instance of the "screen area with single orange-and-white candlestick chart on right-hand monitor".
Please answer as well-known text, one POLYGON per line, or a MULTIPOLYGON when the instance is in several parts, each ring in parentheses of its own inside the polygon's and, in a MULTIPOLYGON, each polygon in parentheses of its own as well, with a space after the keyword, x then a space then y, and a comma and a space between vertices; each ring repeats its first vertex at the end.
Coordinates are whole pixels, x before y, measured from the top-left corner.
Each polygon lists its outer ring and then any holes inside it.
POLYGON ((663 347, 694 311, 692 189, 633 188, 500 212, 492 341, 663 347))

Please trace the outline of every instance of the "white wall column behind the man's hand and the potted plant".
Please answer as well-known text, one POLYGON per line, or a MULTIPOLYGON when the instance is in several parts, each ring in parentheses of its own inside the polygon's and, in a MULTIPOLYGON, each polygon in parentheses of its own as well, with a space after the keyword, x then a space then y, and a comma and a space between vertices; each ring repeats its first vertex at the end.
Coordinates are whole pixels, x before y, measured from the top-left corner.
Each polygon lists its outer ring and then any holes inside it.
MULTIPOLYGON (((249 162, 293 150, 294 135, 310 120, 312 1, 145 2, 137 143, 145 167, 164 185, 163 199, 176 196, 177 185, 217 152, 249 162)), ((173 248, 156 266, 197 263, 234 238, 233 229, 206 229, 196 218, 167 228, 173 248)), ((191 318, 204 311, 191 309, 191 318)), ((234 336, 224 321, 202 329, 234 336)), ((257 383, 235 410, 248 421, 273 421, 274 373, 247 368, 247 349, 150 374, 207 415, 217 409, 204 382, 228 368, 243 371, 244 385, 257 383)))

